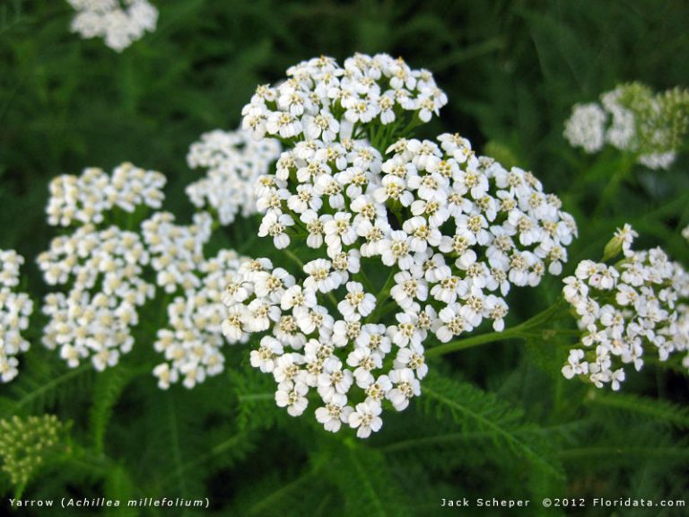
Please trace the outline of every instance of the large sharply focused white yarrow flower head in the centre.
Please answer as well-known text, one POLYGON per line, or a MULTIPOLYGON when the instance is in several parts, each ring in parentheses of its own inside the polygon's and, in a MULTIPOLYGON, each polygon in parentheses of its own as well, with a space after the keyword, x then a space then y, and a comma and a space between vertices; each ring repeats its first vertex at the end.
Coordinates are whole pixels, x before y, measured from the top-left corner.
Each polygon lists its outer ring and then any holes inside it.
POLYGON ((299 416, 315 391, 328 431, 367 437, 384 406, 420 395, 424 342, 501 330, 510 285, 559 274, 576 226, 533 174, 467 139, 406 137, 447 101, 428 71, 356 55, 287 74, 243 110, 257 138, 292 147, 257 181, 258 235, 283 259, 240 268, 223 329, 263 334, 251 364, 275 378, 278 406, 299 416))

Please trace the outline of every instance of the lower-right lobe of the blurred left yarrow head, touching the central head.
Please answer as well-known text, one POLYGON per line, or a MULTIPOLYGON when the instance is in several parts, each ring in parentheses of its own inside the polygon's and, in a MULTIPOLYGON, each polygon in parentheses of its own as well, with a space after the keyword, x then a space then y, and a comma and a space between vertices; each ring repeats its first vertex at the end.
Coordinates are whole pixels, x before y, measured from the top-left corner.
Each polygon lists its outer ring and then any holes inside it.
POLYGON ((248 261, 235 251, 221 250, 217 257, 198 267, 203 275, 199 285, 170 303, 170 328, 159 329, 154 344, 167 361, 153 370, 161 389, 169 388, 180 377, 184 377, 184 386, 193 388, 206 376, 222 372, 225 359, 221 348, 226 343, 222 321, 227 317, 222 295, 225 286, 236 279, 240 267, 248 261))

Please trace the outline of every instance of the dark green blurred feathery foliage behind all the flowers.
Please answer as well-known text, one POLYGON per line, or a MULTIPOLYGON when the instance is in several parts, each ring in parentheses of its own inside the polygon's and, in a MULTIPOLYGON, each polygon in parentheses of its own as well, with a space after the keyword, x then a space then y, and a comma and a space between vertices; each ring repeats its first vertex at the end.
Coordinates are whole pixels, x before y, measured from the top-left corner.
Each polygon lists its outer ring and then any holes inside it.
MULTIPOLYGON (((420 136, 458 132, 563 197, 581 233, 565 272, 599 258, 624 222, 641 233, 640 247, 661 244, 687 263, 679 236, 689 223, 686 157, 671 171, 640 168, 598 206, 619 156, 586 156, 562 136, 574 103, 617 83, 689 84, 684 1, 155 4, 157 31, 117 54, 72 34, 65 2, 0 0, 0 248, 29 258, 37 296, 44 288, 31 258, 53 235, 44 215, 51 178, 134 162, 168 176, 166 207, 184 220, 183 190, 197 176, 185 156, 198 136, 237 127, 257 84, 279 80, 288 66, 357 51, 388 52, 435 75, 449 104, 420 136)), ((512 294, 511 323, 559 289, 549 279, 512 294)), ((431 375, 419 403, 388 416, 365 444, 284 415, 249 371, 246 350, 232 349, 227 372, 195 390, 162 392, 141 368, 145 352, 95 375, 67 370, 32 342, 19 380, 0 389, 4 413, 74 421, 71 460, 28 486, 32 498, 208 495, 218 515, 435 515, 443 497, 687 494, 686 376, 650 367, 625 383, 626 394, 591 397, 562 379, 562 352, 545 337, 432 364, 444 377, 436 385, 431 375)), ((536 504, 524 514, 540 511, 536 504)), ((545 512, 563 513, 601 514, 545 512)))

